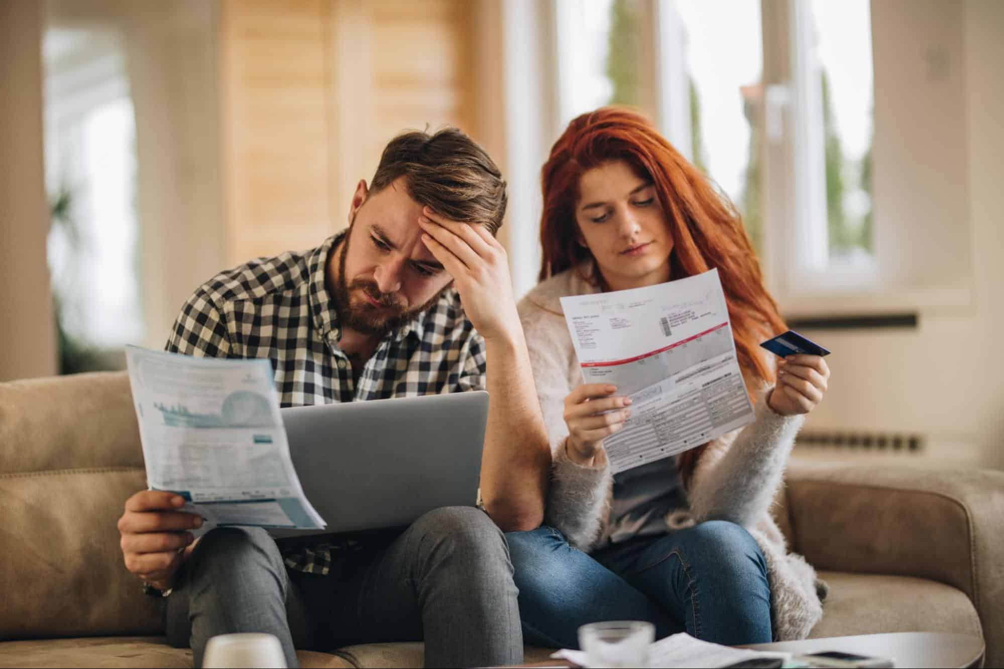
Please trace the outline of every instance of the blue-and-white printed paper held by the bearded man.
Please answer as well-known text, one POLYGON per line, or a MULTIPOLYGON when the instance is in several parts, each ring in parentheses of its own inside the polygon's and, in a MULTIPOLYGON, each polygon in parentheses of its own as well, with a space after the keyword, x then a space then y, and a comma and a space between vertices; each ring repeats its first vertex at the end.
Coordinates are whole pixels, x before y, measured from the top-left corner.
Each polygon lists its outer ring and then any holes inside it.
POLYGON ((268 360, 126 347, 147 484, 216 526, 323 529, 289 457, 268 360))

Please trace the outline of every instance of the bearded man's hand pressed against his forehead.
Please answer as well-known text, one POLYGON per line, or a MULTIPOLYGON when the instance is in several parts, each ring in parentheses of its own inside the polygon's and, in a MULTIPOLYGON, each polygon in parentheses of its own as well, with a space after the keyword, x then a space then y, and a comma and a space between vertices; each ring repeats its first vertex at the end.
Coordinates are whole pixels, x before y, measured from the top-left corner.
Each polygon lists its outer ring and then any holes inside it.
POLYGON ((482 224, 451 221, 429 207, 419 226, 430 253, 453 277, 464 311, 486 340, 520 332, 505 248, 482 224))

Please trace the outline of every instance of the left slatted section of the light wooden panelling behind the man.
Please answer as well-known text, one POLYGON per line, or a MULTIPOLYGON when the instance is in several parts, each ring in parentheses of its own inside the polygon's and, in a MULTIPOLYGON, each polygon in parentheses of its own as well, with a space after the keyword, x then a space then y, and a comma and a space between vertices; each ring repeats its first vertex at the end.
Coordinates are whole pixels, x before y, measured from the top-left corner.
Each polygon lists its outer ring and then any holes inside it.
POLYGON ((227 261, 315 246, 331 230, 326 0, 223 0, 227 261))

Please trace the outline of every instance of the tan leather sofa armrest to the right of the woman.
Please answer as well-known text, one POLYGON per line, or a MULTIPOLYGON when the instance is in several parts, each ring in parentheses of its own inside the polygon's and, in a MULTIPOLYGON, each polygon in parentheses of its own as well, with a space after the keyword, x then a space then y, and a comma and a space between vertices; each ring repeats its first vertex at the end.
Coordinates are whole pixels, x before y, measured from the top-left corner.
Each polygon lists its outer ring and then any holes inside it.
POLYGON ((799 462, 792 549, 816 569, 913 576, 966 593, 987 666, 1004 666, 1004 471, 799 462))

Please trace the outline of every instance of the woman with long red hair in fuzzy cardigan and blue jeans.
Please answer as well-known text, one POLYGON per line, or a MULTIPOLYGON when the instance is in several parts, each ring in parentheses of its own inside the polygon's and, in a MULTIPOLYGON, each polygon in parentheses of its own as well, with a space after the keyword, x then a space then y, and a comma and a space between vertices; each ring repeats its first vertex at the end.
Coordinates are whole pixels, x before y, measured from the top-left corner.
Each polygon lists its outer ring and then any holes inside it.
POLYGON ((542 170, 540 280, 519 304, 553 453, 545 525, 508 534, 528 643, 575 648, 578 626, 649 620, 723 644, 797 639, 825 586, 790 554, 768 508, 822 358, 775 367, 785 330, 735 208, 641 114, 606 107, 568 125, 542 170), (603 438, 631 400, 582 384, 560 298, 642 288, 717 268, 755 420, 683 454, 611 475, 603 438))

